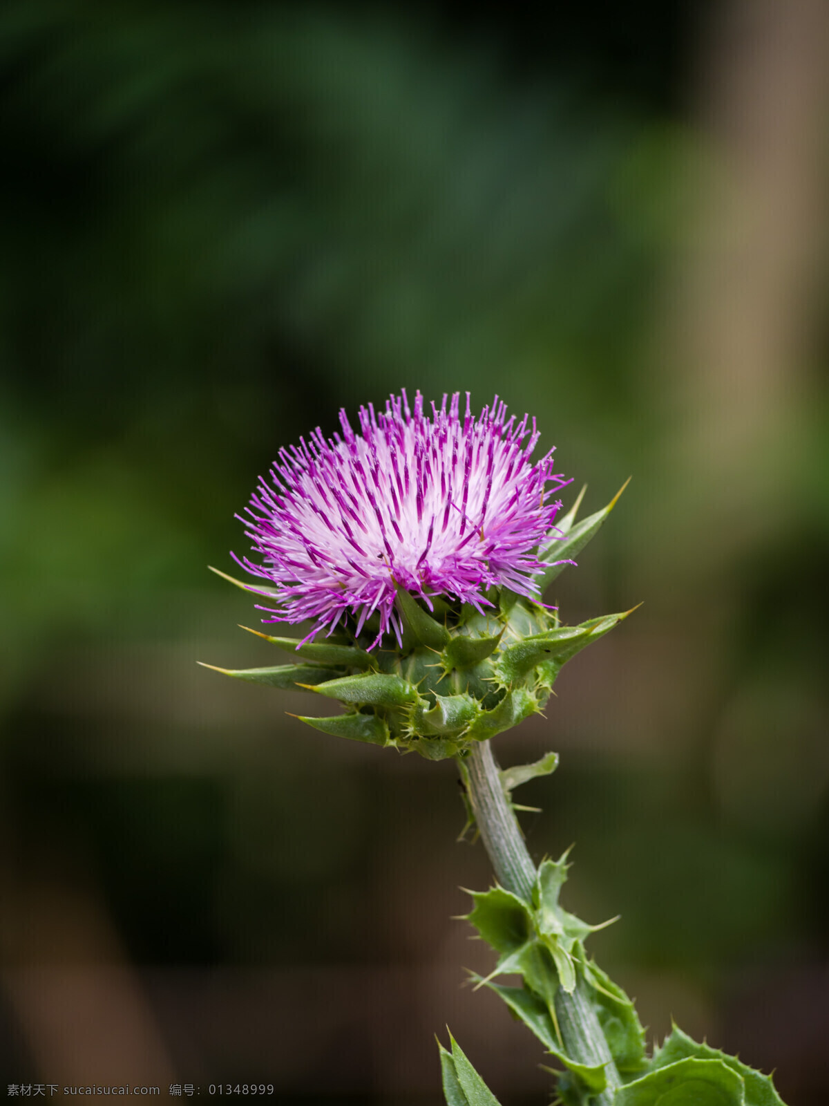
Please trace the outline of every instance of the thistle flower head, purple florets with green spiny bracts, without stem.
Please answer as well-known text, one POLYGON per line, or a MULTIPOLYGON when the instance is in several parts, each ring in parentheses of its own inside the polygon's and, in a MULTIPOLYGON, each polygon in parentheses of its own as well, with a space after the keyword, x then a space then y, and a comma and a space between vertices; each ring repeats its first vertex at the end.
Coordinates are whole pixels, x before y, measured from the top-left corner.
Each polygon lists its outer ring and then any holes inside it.
POLYGON ((359 435, 343 413, 342 435, 280 451, 242 519, 261 563, 237 560, 259 580, 227 578, 270 601, 265 622, 312 629, 259 635, 301 664, 219 671, 337 699, 345 714, 303 721, 441 760, 541 711, 562 666, 623 617, 562 626, 541 602, 616 499, 556 522, 569 481, 552 450, 532 462, 535 420, 507 420, 497 396, 478 418, 469 396, 462 419, 457 394, 430 416, 420 393, 413 406, 392 395, 360 408, 359 435))

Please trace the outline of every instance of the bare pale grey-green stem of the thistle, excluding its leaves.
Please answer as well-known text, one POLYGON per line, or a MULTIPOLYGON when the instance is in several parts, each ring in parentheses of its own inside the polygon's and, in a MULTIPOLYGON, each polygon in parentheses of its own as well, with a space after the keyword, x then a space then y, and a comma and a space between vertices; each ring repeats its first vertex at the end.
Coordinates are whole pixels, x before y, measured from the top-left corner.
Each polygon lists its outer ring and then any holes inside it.
MULTIPOLYGON (((506 890, 532 902, 536 868, 524 844, 515 813, 504 795, 490 742, 476 744, 463 764, 475 824, 495 878, 506 890)), ((594 1106, 611 1106, 621 1081, 585 988, 584 977, 579 973, 573 994, 567 994, 562 987, 557 989, 556 1018, 565 1051, 573 1060, 590 1067, 605 1065, 608 1087, 592 1102, 594 1106)))

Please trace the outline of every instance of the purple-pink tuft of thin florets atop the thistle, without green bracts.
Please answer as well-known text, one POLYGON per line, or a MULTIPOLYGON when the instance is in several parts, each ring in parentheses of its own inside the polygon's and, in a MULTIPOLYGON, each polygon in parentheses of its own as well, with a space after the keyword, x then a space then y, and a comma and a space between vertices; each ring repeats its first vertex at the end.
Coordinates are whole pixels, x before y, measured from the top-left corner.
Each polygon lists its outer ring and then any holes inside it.
POLYGON ((553 473, 553 450, 531 462, 535 419, 532 432, 527 415, 507 420, 497 396, 475 418, 469 393, 463 418, 459 393, 429 416, 405 390, 385 413, 360 407, 359 435, 339 418, 342 437, 317 428, 280 450, 241 519, 262 563, 237 560, 277 604, 265 622, 309 618, 313 637, 351 615, 359 634, 377 612, 376 645, 389 628, 400 640, 398 584, 430 608, 441 595, 481 611, 493 585, 537 596, 535 551, 562 505, 548 500, 569 481, 553 473))

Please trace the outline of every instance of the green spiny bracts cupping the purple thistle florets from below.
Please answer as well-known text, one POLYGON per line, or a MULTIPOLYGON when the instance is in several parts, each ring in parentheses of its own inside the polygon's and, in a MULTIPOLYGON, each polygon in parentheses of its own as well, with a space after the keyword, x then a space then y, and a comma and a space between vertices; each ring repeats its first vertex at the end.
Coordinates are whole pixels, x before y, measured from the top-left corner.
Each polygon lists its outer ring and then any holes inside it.
MULTIPOLYGON (((581 550, 617 499, 578 524, 574 508, 544 546, 549 559, 568 559, 581 550)), ((539 573, 541 589, 564 567, 554 564, 539 573)), ((266 591, 219 575, 253 594, 266 591)), ((302 645, 253 630, 295 653, 301 662, 217 671, 337 700, 346 713, 301 716, 325 733, 418 752, 429 760, 464 757, 474 742, 539 713, 562 667, 629 613, 563 626, 556 611, 507 588, 491 588, 486 599, 492 606, 483 614, 445 597, 434 597, 430 612, 421 598, 398 585, 396 602, 403 625, 399 647, 368 648, 377 637, 372 619, 359 634, 346 624, 345 633, 302 645)))

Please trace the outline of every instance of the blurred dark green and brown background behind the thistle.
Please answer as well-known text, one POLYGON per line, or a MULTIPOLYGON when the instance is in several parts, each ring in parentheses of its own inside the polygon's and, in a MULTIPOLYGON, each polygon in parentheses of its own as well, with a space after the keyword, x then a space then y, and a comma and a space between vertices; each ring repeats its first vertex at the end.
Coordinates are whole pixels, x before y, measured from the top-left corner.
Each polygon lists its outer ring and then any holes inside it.
POLYGON ((652 1035, 826 1103, 829 7, 6 0, 0 81, 3 1082, 427 1106, 449 1023, 547 1100, 453 765, 196 666, 279 661, 256 474, 402 385, 632 474, 555 598, 644 605, 499 755, 652 1035))

